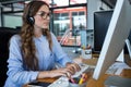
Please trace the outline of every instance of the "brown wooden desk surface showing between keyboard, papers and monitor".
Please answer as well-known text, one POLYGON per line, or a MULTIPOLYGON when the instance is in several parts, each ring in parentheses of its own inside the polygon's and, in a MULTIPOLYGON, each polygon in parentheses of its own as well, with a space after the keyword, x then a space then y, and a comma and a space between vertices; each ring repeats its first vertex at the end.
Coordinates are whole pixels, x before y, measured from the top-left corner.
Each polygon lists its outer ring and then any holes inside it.
MULTIPOLYGON (((84 60, 84 63, 87 63, 87 64, 90 64, 90 63, 96 64, 96 61, 97 61, 97 59, 88 59, 88 60, 86 60, 86 61, 84 60)), ((92 75, 92 74, 93 74, 93 73, 91 73, 91 75, 92 75)), ((107 78, 108 76, 110 76, 110 75, 104 74, 104 75, 102 75, 102 76, 99 77, 98 80, 93 79, 92 76, 91 76, 90 79, 88 79, 88 82, 87 82, 87 86, 86 86, 86 87, 105 87, 104 83, 105 83, 105 80, 106 80, 106 78, 107 78)), ((131 78, 131 70, 124 69, 124 70, 121 72, 120 76, 127 77, 127 78, 131 78)), ((56 79, 57 79, 57 78, 44 78, 44 79, 38 79, 38 80, 39 80, 39 82, 49 82, 49 83, 52 83, 52 82, 55 82, 56 79)), ((24 87, 27 87, 27 85, 25 85, 24 87)))

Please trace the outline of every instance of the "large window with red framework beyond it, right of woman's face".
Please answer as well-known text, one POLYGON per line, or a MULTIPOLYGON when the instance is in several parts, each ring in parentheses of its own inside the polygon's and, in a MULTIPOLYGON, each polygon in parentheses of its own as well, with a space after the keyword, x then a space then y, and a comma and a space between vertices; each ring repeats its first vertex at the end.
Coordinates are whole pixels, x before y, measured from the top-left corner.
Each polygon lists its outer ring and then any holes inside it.
POLYGON ((81 46, 80 29, 86 29, 86 7, 53 9, 53 34, 61 45, 81 46))

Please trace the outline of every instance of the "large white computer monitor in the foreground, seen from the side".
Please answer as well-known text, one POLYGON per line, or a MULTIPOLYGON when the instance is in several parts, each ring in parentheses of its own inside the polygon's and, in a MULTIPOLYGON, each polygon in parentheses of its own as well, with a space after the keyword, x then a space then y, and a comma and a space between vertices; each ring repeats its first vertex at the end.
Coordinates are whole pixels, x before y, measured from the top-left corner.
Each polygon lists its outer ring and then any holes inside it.
POLYGON ((117 0, 93 78, 98 79, 115 63, 131 29, 131 1, 117 0))

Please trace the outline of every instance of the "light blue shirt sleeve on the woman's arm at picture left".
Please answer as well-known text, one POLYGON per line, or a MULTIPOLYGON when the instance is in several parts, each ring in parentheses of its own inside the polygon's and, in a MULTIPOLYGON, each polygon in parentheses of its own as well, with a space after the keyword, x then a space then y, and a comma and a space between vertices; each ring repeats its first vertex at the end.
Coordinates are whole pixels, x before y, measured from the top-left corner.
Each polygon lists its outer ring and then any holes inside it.
POLYGON ((26 71, 23 65, 20 36, 14 35, 10 40, 9 47, 9 60, 8 60, 8 76, 19 85, 26 84, 36 79, 38 72, 26 71))

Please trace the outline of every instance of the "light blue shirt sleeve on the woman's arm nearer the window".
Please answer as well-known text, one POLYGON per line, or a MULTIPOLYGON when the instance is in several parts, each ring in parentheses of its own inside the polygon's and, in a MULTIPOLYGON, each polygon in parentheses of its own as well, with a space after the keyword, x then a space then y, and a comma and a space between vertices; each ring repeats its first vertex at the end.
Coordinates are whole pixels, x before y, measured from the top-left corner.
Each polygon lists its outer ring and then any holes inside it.
POLYGON ((52 33, 51 38, 52 38, 52 51, 56 55, 56 61, 62 66, 66 66, 68 62, 73 62, 71 58, 69 58, 68 54, 62 50, 60 44, 58 42, 56 36, 52 33))

